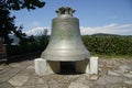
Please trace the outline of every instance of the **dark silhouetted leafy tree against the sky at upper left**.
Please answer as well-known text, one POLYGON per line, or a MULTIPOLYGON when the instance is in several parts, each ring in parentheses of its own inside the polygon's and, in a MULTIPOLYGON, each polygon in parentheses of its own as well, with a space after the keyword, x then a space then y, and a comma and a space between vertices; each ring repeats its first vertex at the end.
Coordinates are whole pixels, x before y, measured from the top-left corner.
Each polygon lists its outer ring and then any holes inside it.
POLYGON ((22 26, 16 26, 14 24, 15 16, 10 15, 12 10, 28 9, 34 10, 36 8, 44 7, 45 2, 40 0, 0 0, 0 37, 3 40, 4 44, 10 44, 12 40, 9 34, 14 34, 20 40, 25 36, 22 33, 22 26))

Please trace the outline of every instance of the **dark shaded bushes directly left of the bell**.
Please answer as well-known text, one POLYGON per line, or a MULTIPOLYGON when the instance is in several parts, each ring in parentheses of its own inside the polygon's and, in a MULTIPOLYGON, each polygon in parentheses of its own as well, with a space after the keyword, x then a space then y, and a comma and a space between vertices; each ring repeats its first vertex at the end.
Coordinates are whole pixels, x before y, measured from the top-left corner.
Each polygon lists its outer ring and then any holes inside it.
POLYGON ((8 56, 43 52, 48 43, 47 29, 44 29, 44 32, 41 33, 41 35, 31 35, 25 41, 26 42, 21 42, 20 45, 7 45, 8 56))

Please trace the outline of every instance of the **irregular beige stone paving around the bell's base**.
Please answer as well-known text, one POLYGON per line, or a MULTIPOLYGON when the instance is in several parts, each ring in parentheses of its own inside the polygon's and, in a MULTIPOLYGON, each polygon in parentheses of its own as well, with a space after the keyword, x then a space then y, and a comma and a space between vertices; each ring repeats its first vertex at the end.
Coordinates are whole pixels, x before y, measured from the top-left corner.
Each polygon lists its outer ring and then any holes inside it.
POLYGON ((99 58, 99 75, 34 73, 34 62, 0 65, 0 88, 132 88, 132 59, 99 58))

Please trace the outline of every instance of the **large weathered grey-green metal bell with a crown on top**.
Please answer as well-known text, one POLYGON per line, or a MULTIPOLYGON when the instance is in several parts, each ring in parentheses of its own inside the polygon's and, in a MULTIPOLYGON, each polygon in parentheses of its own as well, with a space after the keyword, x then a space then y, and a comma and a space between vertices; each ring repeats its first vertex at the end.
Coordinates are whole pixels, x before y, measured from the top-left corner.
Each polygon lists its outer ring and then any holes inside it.
POLYGON ((74 12, 69 7, 56 10, 58 16, 53 19, 51 40, 42 58, 62 62, 90 58, 80 37, 79 20, 73 16, 74 12))

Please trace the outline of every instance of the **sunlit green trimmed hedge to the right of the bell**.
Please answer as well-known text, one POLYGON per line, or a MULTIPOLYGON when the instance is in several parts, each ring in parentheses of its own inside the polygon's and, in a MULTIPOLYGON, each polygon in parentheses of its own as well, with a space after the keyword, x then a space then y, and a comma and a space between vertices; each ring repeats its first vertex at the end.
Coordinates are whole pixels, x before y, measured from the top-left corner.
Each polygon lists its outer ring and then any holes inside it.
POLYGON ((132 36, 84 35, 82 41, 91 54, 132 56, 132 36))

